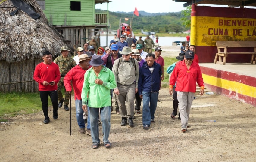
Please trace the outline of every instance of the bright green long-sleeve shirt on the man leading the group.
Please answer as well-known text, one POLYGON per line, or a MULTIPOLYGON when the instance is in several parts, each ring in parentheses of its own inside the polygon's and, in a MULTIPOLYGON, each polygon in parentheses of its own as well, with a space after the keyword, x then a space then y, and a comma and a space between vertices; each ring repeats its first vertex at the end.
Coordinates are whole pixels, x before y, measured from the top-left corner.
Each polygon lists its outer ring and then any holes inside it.
POLYGON ((112 71, 107 67, 102 67, 103 68, 100 71, 98 77, 96 76, 92 67, 89 68, 84 74, 84 82, 81 95, 82 105, 97 108, 111 106, 110 89, 115 88, 117 84, 112 71), (103 81, 102 85, 95 83, 95 79, 97 78, 103 81))

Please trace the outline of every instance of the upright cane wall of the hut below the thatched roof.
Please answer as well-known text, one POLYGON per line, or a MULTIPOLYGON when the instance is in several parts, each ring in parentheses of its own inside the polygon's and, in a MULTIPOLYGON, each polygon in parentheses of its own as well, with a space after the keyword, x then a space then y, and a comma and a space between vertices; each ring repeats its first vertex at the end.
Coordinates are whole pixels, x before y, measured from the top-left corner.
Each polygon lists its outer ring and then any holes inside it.
POLYGON ((37 92, 38 83, 33 74, 37 64, 42 59, 23 60, 7 63, 0 61, 0 91, 1 92, 37 92))

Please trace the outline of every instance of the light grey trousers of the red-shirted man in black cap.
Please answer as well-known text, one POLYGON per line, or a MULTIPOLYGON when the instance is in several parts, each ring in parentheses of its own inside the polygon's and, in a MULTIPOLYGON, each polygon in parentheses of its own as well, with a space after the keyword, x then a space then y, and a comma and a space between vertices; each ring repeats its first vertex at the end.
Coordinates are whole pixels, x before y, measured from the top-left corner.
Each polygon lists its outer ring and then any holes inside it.
POLYGON ((189 122, 189 112, 194 100, 195 93, 193 92, 179 92, 177 91, 177 98, 179 101, 179 112, 181 126, 187 125, 189 122))

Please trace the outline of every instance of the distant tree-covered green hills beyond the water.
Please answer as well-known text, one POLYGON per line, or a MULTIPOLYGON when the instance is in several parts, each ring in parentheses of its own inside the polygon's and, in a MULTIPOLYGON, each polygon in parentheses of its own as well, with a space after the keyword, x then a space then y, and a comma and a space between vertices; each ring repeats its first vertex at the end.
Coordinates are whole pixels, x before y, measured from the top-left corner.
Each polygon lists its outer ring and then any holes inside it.
MULTIPOLYGON (((96 13, 106 13, 106 10, 95 9, 96 13)), ((119 20, 122 18, 122 23, 130 23, 130 19, 125 21, 124 18, 132 18, 133 12, 110 12, 109 11, 109 29, 117 30, 119 28, 119 20)), ((185 27, 183 24, 183 18, 181 12, 170 13, 147 13, 139 11, 139 17, 134 15, 132 21, 132 29, 134 32, 144 31, 159 31, 160 33, 166 32, 183 32, 189 27, 185 27)))

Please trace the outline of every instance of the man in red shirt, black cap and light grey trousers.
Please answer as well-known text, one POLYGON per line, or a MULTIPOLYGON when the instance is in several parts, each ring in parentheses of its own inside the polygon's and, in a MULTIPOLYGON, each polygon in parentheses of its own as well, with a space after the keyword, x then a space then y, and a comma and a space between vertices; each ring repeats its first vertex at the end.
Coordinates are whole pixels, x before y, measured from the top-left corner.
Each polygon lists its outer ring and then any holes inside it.
POLYGON ((201 87, 200 95, 204 94, 204 81, 201 69, 194 59, 193 51, 186 51, 184 60, 176 64, 169 81, 169 93, 173 94, 173 86, 177 81, 175 91, 177 91, 181 131, 187 131, 189 112, 193 97, 196 91, 196 82, 201 87))

